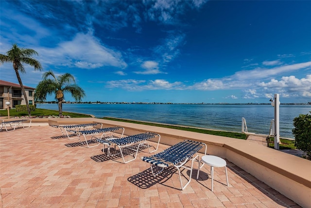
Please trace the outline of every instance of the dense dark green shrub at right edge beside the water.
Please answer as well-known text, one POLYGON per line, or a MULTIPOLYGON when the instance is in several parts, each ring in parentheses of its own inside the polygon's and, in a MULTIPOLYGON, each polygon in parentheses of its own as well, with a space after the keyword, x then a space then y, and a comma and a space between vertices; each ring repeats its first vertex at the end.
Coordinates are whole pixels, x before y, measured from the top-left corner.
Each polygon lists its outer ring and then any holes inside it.
MULTIPOLYGON (((311 112, 310 112, 311 113, 311 112)), ((300 114, 294 118, 293 134, 297 149, 311 154, 311 114, 300 114)))

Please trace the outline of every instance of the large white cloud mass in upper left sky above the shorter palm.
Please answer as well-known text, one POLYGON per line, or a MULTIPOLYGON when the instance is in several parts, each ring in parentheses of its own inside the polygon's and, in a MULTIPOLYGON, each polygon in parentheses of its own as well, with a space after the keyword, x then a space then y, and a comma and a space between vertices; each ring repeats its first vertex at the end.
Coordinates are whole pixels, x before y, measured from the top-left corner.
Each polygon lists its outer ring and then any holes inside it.
POLYGON ((105 47, 91 33, 78 33, 69 41, 63 41, 55 48, 38 48, 40 62, 47 65, 95 69, 102 66, 114 66, 124 69, 127 64, 122 55, 105 47))

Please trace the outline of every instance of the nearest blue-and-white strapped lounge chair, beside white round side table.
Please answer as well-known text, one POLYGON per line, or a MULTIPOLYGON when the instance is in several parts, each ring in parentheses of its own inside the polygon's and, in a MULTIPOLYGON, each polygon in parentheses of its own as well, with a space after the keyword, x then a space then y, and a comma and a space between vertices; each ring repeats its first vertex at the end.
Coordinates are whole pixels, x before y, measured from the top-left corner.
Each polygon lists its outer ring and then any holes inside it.
MULTIPOLYGON (((198 155, 198 151, 201 150, 205 146, 205 155, 207 151, 207 145, 201 142, 184 140, 179 142, 172 147, 159 152, 152 156, 141 157, 141 160, 150 163, 150 168, 153 176, 157 176, 160 172, 164 170, 164 168, 169 168, 171 166, 175 167, 179 173, 179 181, 181 189, 185 189, 191 181, 192 169, 193 169, 193 161, 196 159, 198 161, 198 167, 200 167, 200 159, 198 155), (194 156, 194 154, 196 154, 194 156), (185 164, 191 160, 191 167, 185 166, 185 164), (157 173, 154 173, 153 167, 157 166, 161 168, 157 173), (190 176, 188 182, 183 186, 181 181, 181 171, 180 168, 190 170, 190 176)), ((202 165, 203 166, 203 165, 202 165)))

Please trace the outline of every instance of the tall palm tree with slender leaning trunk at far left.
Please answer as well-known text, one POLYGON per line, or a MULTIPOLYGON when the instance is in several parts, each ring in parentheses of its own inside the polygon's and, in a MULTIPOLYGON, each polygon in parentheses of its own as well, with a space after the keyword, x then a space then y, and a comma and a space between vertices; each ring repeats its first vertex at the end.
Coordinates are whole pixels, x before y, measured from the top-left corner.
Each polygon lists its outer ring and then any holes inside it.
POLYGON ((24 94, 26 108, 27 108, 29 116, 31 116, 29 103, 28 103, 24 85, 21 81, 18 71, 20 71, 21 73, 26 73, 23 63, 29 64, 35 67, 35 70, 42 69, 40 62, 36 60, 35 58, 33 58, 32 57, 33 55, 38 55, 38 53, 33 49, 19 48, 16 43, 14 43, 13 47, 8 52, 6 52, 6 55, 0 54, 0 63, 4 63, 4 62, 13 63, 13 69, 15 70, 18 83, 24 94))

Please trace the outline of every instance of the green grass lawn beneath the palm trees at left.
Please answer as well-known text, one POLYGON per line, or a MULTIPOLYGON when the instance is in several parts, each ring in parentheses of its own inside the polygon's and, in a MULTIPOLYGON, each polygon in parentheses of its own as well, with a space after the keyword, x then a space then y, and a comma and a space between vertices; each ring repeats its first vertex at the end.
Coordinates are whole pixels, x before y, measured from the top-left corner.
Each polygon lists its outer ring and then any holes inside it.
MULTIPOLYGON (((35 111, 31 112, 32 116, 44 116, 44 115, 54 115, 58 116, 58 111, 54 110, 47 110, 47 109, 40 109, 36 108, 35 111)), ((69 115, 70 118, 85 118, 85 117, 91 117, 90 115, 86 114, 81 114, 81 113, 68 113, 68 112, 63 112, 63 115, 69 115)), ((8 111, 7 110, 1 110, 0 111, 0 116, 8 116, 8 111)), ((15 116, 28 116, 28 112, 17 112, 16 109, 10 109, 10 117, 15 117, 15 116)))

